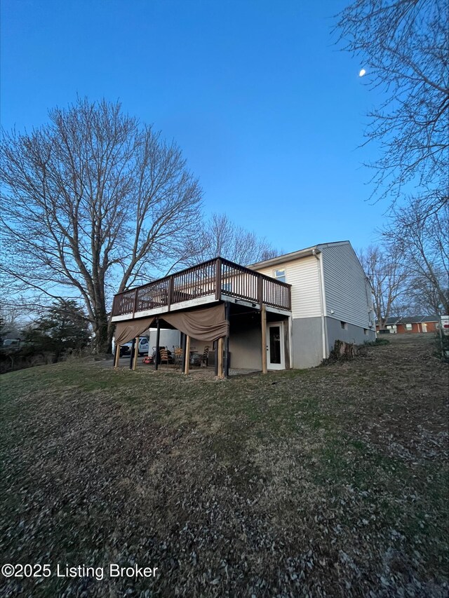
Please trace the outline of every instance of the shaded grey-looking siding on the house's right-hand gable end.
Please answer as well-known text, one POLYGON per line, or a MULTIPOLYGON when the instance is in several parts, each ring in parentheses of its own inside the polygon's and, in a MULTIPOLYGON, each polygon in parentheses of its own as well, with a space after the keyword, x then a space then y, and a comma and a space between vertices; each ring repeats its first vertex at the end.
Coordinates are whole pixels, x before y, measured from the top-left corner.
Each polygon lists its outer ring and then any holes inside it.
POLYGON ((349 243, 320 245, 326 315, 363 328, 373 324, 370 286, 349 243))

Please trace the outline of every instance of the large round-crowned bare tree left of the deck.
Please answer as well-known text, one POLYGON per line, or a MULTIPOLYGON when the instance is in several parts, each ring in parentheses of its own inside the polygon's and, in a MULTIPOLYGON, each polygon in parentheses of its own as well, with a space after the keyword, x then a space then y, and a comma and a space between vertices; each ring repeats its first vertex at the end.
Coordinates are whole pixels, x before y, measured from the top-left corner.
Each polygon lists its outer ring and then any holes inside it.
POLYGON ((4 132, 4 275, 47 298, 83 299, 98 351, 112 292, 175 260, 201 189, 174 143, 121 111, 78 100, 31 133, 4 132))

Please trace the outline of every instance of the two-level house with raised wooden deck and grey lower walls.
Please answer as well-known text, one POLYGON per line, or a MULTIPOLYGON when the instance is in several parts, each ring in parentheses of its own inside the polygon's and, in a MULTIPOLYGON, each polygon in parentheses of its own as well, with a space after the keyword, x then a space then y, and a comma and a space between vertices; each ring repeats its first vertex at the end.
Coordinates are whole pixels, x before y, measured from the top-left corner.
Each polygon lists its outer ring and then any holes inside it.
POLYGON ((159 346, 178 344, 176 329, 187 353, 217 348, 219 375, 222 351, 225 373, 230 365, 307 368, 327 358, 337 339, 375 339, 371 287, 349 241, 248 268, 217 257, 116 295, 112 321, 117 344, 148 328, 156 344, 151 329, 159 326, 159 346))

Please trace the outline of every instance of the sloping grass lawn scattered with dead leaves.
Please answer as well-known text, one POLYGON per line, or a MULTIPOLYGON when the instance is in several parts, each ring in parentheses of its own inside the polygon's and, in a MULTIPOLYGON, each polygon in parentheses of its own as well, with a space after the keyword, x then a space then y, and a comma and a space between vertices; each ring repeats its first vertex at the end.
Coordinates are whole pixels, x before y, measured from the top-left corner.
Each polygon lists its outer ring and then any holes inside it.
POLYGON ((446 596, 433 340, 225 381, 94 362, 5 374, 1 561, 52 574, 1 577, 1 595, 446 596), (109 563, 158 570, 111 578, 109 563))

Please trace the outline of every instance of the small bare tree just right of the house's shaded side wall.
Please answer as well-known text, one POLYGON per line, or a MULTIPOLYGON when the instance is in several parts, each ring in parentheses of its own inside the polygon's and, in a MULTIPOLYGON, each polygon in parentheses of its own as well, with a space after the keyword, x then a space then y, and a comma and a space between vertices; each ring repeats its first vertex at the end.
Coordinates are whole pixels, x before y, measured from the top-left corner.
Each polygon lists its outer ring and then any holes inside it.
POLYGON ((406 290, 407 272, 401 259, 380 245, 370 245, 361 250, 358 259, 373 288, 375 317, 382 330, 406 290))

